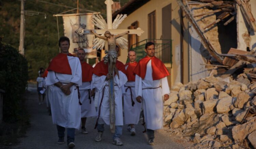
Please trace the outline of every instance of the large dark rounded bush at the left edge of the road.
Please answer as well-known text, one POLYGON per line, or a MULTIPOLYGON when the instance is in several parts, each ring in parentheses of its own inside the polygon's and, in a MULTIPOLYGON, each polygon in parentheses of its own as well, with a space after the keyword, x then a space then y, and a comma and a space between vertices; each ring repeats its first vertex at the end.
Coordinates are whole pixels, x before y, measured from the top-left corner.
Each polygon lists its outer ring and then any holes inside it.
POLYGON ((0 89, 3 94, 3 121, 20 119, 20 105, 28 80, 28 62, 11 45, 0 42, 0 89))

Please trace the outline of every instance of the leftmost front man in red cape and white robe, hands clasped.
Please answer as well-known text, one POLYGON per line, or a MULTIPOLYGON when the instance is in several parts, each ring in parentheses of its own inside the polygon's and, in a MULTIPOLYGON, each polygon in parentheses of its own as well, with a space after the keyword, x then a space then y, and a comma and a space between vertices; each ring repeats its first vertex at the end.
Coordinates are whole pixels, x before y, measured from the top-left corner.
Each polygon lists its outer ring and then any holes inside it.
POLYGON ((58 144, 64 144, 67 128, 67 144, 75 147, 75 129, 80 128, 81 109, 79 86, 82 85, 82 70, 79 58, 69 53, 70 41, 66 36, 59 39, 61 53, 50 62, 46 85, 51 86, 49 97, 53 123, 57 125, 58 144))

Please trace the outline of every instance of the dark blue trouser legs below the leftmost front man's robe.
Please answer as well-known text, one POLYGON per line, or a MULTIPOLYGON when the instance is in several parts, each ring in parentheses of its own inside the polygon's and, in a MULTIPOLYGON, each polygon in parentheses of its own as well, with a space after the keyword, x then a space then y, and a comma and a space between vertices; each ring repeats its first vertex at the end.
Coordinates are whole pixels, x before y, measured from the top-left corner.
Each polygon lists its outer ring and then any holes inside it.
MULTIPOLYGON (((58 137, 65 137, 65 127, 57 126, 57 130, 58 130, 58 137)), ((67 128, 67 142, 68 144, 70 142, 74 142, 75 141, 75 129, 74 128, 67 128)))

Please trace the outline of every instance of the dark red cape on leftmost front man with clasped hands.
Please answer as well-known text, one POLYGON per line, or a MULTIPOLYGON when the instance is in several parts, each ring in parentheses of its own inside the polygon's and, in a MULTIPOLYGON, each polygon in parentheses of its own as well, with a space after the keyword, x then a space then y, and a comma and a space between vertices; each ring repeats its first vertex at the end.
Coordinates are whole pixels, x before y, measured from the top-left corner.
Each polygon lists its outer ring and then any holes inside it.
POLYGON ((47 70, 54 71, 61 74, 72 74, 71 68, 68 61, 68 56, 73 56, 72 54, 63 54, 60 53, 50 62, 47 70))

